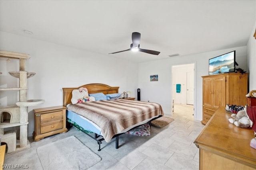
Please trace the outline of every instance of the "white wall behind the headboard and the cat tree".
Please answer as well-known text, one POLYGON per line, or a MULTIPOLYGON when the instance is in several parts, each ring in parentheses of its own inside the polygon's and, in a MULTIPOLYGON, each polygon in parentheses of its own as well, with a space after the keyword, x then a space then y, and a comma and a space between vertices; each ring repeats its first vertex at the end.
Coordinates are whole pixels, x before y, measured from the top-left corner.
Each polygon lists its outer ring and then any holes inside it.
MULTIPOLYGON (((0 50, 31 55, 26 61, 26 71, 36 74, 28 79, 28 100, 45 100, 42 105, 28 107, 29 136, 34 131, 32 109, 62 106, 63 87, 103 83, 120 86, 120 93, 130 91, 131 97, 135 97, 138 87, 137 63, 5 32, 0 32, 0 37, 0 50)), ((9 71, 18 70, 18 59, 11 59, 7 63, 6 58, 0 58, 0 87, 18 87, 18 79, 8 74, 9 71)), ((17 93, 0 91, 1 106, 15 105, 19 100, 17 93)))

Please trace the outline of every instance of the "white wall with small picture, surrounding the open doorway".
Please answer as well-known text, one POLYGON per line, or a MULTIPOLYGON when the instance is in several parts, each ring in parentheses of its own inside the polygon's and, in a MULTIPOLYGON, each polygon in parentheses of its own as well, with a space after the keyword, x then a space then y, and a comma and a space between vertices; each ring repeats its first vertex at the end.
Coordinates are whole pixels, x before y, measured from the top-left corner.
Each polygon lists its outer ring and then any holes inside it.
POLYGON ((141 89, 141 100, 158 102, 161 104, 164 113, 171 114, 171 67, 173 65, 195 63, 195 98, 194 98, 194 118, 202 120, 202 78, 208 75, 209 59, 236 50, 236 62, 240 68, 247 69, 247 47, 237 47, 219 51, 211 51, 200 54, 174 57, 158 61, 151 61, 139 64, 138 88, 141 89), (158 74, 158 82, 150 82, 149 76, 158 74))

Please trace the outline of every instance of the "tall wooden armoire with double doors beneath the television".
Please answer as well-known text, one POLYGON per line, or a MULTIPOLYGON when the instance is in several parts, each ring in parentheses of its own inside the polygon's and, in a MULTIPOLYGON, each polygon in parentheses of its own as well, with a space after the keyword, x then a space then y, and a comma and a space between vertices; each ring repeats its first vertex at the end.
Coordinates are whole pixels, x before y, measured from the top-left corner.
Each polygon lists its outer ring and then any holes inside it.
POLYGON ((219 106, 246 106, 248 74, 224 73, 202 76, 203 119, 206 125, 219 106))

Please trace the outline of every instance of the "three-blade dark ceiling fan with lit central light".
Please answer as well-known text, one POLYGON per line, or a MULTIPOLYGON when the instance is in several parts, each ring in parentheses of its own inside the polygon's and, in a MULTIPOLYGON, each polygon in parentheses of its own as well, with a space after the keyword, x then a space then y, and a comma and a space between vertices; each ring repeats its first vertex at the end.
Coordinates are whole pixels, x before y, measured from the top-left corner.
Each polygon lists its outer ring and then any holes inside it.
POLYGON ((140 33, 133 32, 132 33, 132 44, 130 45, 130 49, 118 51, 118 52, 114 52, 114 53, 109 53, 109 54, 115 54, 115 53, 120 53, 120 52, 124 52, 124 51, 131 51, 131 50, 132 51, 141 51, 143 53, 148 53, 148 54, 153 54, 153 55, 158 55, 160 53, 158 51, 141 49, 139 43, 140 43, 140 33))

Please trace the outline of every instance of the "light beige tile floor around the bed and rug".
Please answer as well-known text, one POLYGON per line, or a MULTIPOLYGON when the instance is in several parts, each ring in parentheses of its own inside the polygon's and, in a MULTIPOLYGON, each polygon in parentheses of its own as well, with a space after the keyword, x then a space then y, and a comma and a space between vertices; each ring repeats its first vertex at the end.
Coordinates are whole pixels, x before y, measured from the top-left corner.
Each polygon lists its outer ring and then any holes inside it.
POLYGON ((36 149, 74 135, 102 158, 88 170, 198 170, 199 153, 193 142, 204 125, 195 121, 192 114, 192 105, 174 104, 172 123, 163 128, 152 126, 151 135, 146 137, 123 134, 119 149, 115 149, 112 139, 109 143, 103 141, 102 150, 98 151, 96 141, 74 128, 38 142, 31 138, 30 149, 6 155, 4 163, 28 164, 30 170, 42 170, 36 149))

